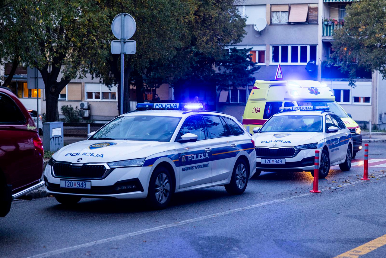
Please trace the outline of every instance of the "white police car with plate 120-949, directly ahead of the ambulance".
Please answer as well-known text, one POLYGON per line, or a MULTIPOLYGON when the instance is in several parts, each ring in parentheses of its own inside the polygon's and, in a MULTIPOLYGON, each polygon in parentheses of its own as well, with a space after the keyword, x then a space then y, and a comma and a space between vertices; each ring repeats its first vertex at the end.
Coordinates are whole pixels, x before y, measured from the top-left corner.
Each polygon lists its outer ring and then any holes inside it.
POLYGON ((313 175, 315 150, 320 151, 319 178, 337 164, 342 171, 350 170, 352 137, 339 116, 328 112, 328 107, 280 109, 260 130, 254 128, 257 176, 261 171, 311 171, 313 175))

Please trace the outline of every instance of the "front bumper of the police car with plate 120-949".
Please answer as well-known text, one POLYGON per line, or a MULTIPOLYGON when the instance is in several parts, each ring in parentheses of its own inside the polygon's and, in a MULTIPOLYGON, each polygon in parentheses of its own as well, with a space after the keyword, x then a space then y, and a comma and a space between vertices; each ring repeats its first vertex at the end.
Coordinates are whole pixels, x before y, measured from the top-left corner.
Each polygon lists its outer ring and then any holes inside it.
POLYGON ((261 159, 271 157, 258 157, 256 158, 256 169, 262 171, 312 171, 314 169, 315 162, 315 150, 321 149, 308 149, 299 150, 295 157, 273 157, 272 159, 285 159, 285 164, 261 164, 261 159))

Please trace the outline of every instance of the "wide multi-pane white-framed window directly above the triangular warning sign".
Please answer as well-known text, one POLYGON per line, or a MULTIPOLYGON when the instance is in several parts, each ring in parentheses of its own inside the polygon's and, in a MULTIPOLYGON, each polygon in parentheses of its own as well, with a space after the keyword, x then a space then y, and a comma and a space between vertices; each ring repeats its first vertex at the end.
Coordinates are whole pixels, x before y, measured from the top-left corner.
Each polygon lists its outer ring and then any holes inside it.
POLYGON ((317 46, 271 46, 273 64, 306 65, 317 59, 317 46))

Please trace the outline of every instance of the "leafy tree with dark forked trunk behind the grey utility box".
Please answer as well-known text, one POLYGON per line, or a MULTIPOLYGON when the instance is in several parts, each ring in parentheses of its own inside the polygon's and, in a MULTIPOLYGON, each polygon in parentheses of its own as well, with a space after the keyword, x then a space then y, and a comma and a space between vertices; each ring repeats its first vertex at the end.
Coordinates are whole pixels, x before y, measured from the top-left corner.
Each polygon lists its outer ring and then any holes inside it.
POLYGON ((12 37, 20 39, 22 60, 37 67, 44 81, 46 120, 58 121, 60 92, 107 55, 99 37, 110 29, 106 6, 94 0, 14 0, 9 5, 19 25, 12 37))

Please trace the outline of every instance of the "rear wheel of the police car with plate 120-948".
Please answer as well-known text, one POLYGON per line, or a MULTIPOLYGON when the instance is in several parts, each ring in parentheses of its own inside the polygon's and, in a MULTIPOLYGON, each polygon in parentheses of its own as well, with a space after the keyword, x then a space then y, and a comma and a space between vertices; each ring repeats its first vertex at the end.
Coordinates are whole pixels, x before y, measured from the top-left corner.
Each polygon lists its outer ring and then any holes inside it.
POLYGON ((245 188, 247 188, 248 178, 249 171, 247 164, 243 159, 238 159, 233 168, 230 183, 225 185, 225 190, 227 190, 230 195, 240 195, 244 193, 245 188))

